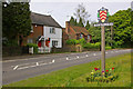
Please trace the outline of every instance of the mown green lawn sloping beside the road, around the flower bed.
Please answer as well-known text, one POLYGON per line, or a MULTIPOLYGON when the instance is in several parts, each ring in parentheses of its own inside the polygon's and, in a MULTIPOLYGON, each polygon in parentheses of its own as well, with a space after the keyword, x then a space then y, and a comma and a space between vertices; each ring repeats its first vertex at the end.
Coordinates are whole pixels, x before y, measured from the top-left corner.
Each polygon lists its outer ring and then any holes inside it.
POLYGON ((91 70, 100 67, 101 61, 93 61, 69 67, 51 73, 29 78, 3 87, 131 87, 131 53, 106 59, 106 69, 115 68, 119 78, 113 82, 86 82, 91 70))

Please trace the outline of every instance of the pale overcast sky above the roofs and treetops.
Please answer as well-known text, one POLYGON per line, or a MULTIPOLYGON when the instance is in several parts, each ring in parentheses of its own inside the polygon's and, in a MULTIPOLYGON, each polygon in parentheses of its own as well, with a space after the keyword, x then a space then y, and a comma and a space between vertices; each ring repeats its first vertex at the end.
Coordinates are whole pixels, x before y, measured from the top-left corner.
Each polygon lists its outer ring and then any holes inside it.
POLYGON ((32 0, 30 10, 32 12, 52 16, 61 27, 65 27, 75 12, 78 4, 83 3, 86 11, 91 14, 89 21, 98 21, 98 10, 102 7, 109 9, 110 14, 114 14, 119 10, 131 8, 132 0, 32 0))

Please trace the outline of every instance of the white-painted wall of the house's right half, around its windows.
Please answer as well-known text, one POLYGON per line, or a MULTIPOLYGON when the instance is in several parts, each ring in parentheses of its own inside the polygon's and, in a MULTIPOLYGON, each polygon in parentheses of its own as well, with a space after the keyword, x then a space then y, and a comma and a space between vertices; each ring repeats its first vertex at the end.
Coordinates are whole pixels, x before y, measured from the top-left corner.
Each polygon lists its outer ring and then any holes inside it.
POLYGON ((53 27, 47 27, 44 26, 43 29, 43 36, 45 39, 50 38, 50 48, 52 48, 52 41, 58 41, 57 48, 62 48, 62 29, 61 28, 54 28, 55 33, 50 33, 50 28, 53 27))

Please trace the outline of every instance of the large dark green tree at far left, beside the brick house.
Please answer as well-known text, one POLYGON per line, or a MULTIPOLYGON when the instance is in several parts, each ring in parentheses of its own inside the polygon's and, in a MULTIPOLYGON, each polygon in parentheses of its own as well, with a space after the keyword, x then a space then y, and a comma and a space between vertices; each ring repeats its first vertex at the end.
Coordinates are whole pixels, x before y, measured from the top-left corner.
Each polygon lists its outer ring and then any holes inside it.
POLYGON ((29 2, 4 2, 2 4, 3 37, 12 41, 22 40, 22 37, 28 36, 31 30, 30 13, 29 2))

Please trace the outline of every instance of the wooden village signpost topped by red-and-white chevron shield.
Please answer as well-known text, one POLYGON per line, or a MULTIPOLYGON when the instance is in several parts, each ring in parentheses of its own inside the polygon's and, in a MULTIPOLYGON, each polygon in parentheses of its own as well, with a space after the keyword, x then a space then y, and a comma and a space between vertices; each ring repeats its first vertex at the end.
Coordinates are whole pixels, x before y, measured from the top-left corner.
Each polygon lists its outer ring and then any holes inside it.
POLYGON ((102 72, 105 72, 105 26, 111 26, 111 39, 113 38, 113 23, 108 22, 109 11, 104 7, 98 10, 98 20, 99 23, 94 24, 94 27, 101 27, 101 68, 102 72))

